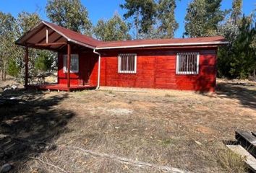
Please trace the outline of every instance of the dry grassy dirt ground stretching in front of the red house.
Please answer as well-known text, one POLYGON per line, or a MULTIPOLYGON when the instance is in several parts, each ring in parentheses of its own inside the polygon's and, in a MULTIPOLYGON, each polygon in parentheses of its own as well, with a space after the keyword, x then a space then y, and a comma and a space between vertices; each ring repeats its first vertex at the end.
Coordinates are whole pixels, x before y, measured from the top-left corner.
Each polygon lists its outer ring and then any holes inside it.
POLYGON ((224 144, 256 128, 249 81, 218 80, 215 94, 104 87, 0 96, 22 99, 0 106, 0 166, 12 172, 246 172, 224 144))

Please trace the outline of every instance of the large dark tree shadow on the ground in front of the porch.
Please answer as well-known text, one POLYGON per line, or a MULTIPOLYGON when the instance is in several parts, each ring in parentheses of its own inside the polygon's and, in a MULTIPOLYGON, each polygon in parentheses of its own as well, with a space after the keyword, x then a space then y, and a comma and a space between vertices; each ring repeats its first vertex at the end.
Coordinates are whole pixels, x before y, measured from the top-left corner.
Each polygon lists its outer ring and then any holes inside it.
POLYGON ((46 92, 7 91, 1 97, 19 97, 25 102, 0 106, 0 166, 6 162, 20 165, 40 152, 54 149, 48 145, 63 133, 74 112, 57 110, 68 94, 46 96, 46 92))

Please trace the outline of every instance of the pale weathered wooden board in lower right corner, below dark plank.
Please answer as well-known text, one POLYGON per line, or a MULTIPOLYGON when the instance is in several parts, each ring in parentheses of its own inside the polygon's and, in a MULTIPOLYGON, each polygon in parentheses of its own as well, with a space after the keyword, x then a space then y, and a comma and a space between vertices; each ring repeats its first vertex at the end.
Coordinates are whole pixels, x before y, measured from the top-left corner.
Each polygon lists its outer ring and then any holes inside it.
POLYGON ((256 173, 256 159, 253 157, 249 152, 244 149, 240 145, 227 145, 231 151, 234 151, 234 153, 239 154, 240 156, 243 156, 245 158, 245 163, 248 165, 249 169, 252 170, 252 172, 256 173))

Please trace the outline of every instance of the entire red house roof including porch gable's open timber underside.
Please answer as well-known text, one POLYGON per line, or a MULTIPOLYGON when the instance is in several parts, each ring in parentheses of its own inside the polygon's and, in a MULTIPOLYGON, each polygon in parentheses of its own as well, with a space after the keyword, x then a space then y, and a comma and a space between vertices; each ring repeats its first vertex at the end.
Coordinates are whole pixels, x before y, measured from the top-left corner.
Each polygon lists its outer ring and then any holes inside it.
POLYGON ((64 27, 42 21, 29 32, 25 33, 17 45, 27 45, 31 48, 42 48, 48 50, 60 50, 67 42, 81 45, 95 50, 121 49, 121 48, 145 48, 145 47, 195 47, 195 46, 218 46, 228 42, 222 36, 216 37, 193 37, 193 38, 171 38, 152 40, 124 40, 103 42, 93 37, 82 35, 78 32, 68 30, 64 27), (48 40, 48 43, 47 41, 48 40))

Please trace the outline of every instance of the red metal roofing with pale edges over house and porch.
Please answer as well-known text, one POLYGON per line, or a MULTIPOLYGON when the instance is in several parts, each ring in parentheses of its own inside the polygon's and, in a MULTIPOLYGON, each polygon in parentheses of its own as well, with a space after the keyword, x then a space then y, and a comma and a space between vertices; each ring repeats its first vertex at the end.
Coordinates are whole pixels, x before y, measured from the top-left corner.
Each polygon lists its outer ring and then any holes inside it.
POLYGON ((171 39, 152 39, 152 40, 124 40, 124 41, 108 41, 103 42, 94 39, 93 37, 88 37, 82 35, 78 32, 68 30, 64 27, 52 24, 50 22, 42 21, 38 26, 30 30, 25 35, 23 35, 17 44, 25 45, 29 41, 32 43, 37 43, 37 40, 42 40, 45 35, 43 35, 43 30, 46 27, 50 27, 56 33, 61 35, 65 40, 82 45, 88 48, 93 48, 97 50, 101 49, 115 49, 115 48, 144 48, 144 47, 161 47, 161 46, 192 46, 192 45, 223 45, 226 44, 224 37, 193 37, 193 38, 171 38, 171 39), (42 28, 43 30, 38 32, 42 28), (32 35, 32 36, 31 36, 32 35), (30 39, 30 40, 28 40, 30 39))

